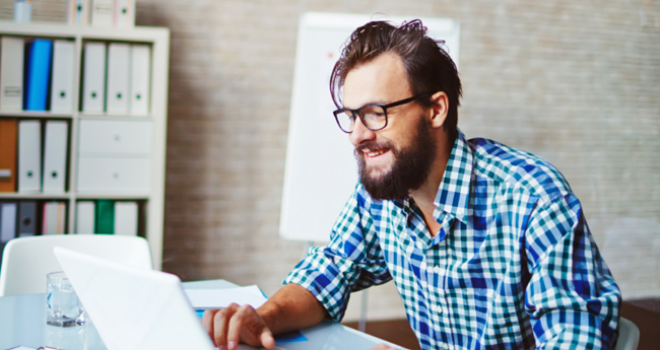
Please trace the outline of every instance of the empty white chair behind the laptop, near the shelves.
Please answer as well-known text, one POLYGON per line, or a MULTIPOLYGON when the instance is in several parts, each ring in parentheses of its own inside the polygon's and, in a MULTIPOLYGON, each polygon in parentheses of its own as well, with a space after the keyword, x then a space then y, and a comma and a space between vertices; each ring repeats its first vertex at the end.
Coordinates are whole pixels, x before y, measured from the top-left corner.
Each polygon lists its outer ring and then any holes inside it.
POLYGON ((151 269, 144 238, 113 235, 52 235, 15 238, 5 246, 0 296, 46 292, 46 275, 62 271, 53 248, 64 247, 128 266, 151 269))

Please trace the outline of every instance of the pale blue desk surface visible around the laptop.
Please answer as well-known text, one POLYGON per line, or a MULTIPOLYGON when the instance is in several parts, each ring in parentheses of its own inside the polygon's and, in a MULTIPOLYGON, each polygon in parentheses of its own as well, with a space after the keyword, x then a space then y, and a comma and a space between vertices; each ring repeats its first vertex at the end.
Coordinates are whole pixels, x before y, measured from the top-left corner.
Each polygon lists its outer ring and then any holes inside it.
MULTIPOLYGON (((185 289, 223 289, 237 287, 224 280, 186 282, 185 289)), ((383 340, 338 323, 323 321, 302 331, 308 341, 276 342, 282 350, 370 349, 383 340)), ((32 348, 55 346, 66 350, 106 350, 91 324, 60 328, 46 325, 46 294, 0 297, 0 350, 23 345, 32 348)), ((393 346, 392 344, 389 344, 393 346)), ((277 349, 276 348, 276 349, 277 349)))

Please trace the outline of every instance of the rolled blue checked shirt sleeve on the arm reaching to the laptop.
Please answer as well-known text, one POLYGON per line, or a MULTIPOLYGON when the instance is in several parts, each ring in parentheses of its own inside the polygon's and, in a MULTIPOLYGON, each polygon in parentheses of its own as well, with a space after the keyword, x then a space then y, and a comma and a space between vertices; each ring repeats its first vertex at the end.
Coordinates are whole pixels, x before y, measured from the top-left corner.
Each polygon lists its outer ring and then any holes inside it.
POLYGON ((309 290, 337 322, 344 317, 352 291, 392 279, 360 188, 358 185, 333 225, 330 242, 310 248, 283 282, 309 290))

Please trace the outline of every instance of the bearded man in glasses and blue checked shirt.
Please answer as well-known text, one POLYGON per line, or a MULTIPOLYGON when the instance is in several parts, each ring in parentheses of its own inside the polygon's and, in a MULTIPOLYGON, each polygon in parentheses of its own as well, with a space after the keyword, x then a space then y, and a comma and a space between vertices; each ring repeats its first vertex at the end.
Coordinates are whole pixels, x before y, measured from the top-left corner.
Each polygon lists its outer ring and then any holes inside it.
POLYGON ((352 34, 331 92, 360 183, 330 243, 264 306, 204 314, 221 348, 340 321, 351 291, 391 279, 423 349, 613 348, 620 291, 580 202, 544 160, 465 139, 456 67, 425 33, 416 20, 352 34))

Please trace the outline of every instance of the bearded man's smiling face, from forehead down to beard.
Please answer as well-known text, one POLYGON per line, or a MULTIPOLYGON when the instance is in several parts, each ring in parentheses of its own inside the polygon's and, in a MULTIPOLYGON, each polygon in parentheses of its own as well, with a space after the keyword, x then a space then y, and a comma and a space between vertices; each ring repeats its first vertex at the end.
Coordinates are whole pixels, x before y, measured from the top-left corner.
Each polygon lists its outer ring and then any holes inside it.
MULTIPOLYGON (((412 96, 403 62, 385 53, 352 69, 344 82, 344 106, 388 104, 412 96)), ((367 129, 356 120, 349 138, 355 146, 362 185, 374 199, 403 199, 419 188, 435 159, 435 139, 426 112, 417 103, 387 110, 387 127, 367 129)))

